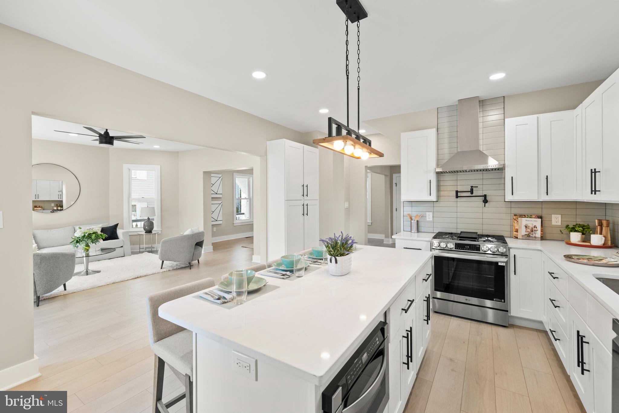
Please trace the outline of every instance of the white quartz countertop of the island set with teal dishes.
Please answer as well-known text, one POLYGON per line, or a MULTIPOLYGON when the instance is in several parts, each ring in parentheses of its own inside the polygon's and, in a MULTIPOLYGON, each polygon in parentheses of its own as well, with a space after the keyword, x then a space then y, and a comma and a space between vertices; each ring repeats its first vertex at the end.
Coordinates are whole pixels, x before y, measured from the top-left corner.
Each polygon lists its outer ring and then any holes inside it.
POLYGON ((190 295, 160 306, 159 316, 321 385, 430 258, 364 245, 346 276, 324 267, 301 279, 264 277, 280 288, 229 310, 190 295))

